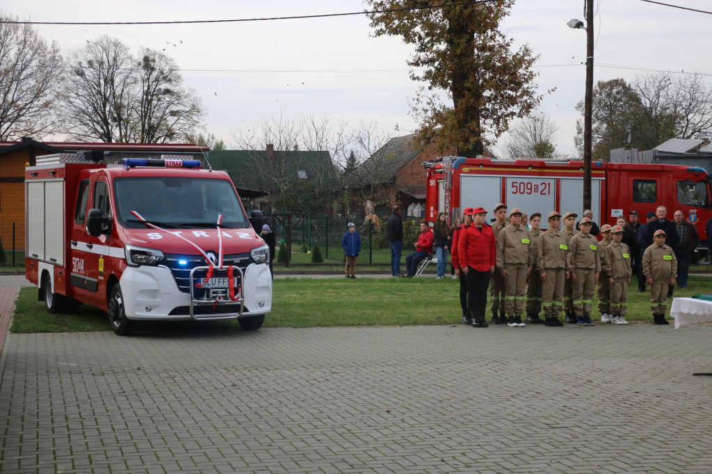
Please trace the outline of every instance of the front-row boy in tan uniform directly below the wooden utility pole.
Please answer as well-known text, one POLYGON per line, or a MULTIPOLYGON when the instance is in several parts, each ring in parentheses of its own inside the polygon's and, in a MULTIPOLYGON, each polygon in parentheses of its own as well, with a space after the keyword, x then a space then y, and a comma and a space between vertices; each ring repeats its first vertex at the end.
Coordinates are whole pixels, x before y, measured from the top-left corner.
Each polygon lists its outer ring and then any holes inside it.
POLYGON ((601 259, 598 240, 591 235, 591 226, 590 218, 582 218, 579 221, 581 231, 569 242, 573 305, 576 324, 579 326, 595 326, 591 320, 591 310, 596 283, 601 273, 601 259))

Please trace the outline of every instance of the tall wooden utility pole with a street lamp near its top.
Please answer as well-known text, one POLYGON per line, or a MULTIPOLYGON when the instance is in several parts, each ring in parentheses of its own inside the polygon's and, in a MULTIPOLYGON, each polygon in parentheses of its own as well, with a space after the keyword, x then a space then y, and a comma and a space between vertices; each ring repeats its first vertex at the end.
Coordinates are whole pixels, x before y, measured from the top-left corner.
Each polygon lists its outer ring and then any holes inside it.
POLYGON ((593 0, 586 0, 586 26, 583 21, 573 19, 567 23, 570 28, 586 31, 586 95, 583 112, 583 209, 591 209, 591 162, 593 155, 593 0))

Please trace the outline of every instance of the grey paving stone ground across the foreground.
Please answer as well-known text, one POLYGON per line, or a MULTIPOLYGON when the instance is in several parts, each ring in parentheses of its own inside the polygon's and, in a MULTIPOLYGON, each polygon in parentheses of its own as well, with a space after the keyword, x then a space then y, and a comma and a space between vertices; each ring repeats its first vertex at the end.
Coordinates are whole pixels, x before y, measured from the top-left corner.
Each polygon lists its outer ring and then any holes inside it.
POLYGON ((709 473, 712 326, 10 335, 2 473, 709 473))

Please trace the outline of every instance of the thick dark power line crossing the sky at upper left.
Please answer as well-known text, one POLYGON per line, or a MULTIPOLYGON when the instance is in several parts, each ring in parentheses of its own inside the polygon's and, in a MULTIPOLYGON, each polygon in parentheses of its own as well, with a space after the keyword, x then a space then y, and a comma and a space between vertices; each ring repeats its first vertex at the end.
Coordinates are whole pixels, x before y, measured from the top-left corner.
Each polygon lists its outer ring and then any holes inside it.
POLYGON ((372 10, 372 11, 354 11, 352 13, 342 14, 321 14, 321 15, 300 15, 300 16, 273 16, 266 18, 246 18, 246 19, 231 19, 231 20, 182 20, 182 21, 0 21, 0 23, 14 23, 21 25, 182 25, 192 23, 239 23, 244 21, 275 21, 275 20, 302 20, 314 18, 328 18, 331 16, 355 16, 355 15, 370 15, 381 13, 393 13, 397 11, 409 10, 428 10, 439 9, 446 6, 461 6, 488 4, 501 0, 468 0, 461 1, 456 4, 440 4, 427 6, 411 6, 403 9, 387 9, 387 10, 372 10))

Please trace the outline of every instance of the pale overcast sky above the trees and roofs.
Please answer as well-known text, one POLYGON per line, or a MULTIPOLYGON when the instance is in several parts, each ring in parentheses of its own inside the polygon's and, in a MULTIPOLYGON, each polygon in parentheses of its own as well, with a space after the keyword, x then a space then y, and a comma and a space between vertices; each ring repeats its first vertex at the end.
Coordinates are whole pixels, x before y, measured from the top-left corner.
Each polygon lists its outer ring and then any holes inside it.
MULTIPOLYGON (((712 11, 710 0, 662 0, 712 11)), ((556 88, 540 110, 560 130, 557 150, 572 152, 575 105, 585 87, 584 0, 518 0, 503 31, 540 54, 540 90, 556 88)), ((632 80, 646 70, 710 74, 712 15, 641 0, 597 0, 595 81, 632 80)), ((33 21, 180 21, 248 19, 363 11, 359 0, 4 0, 6 13, 33 21)), ((172 56, 206 109, 206 130, 231 142, 238 127, 261 117, 328 115, 384 130, 414 129, 407 98, 417 85, 405 63, 412 48, 399 38, 372 38, 365 16, 171 26, 36 26, 64 55, 103 34, 137 51, 172 56), (182 41, 182 43, 181 43, 182 41), (173 45, 176 46, 173 46, 173 45)), ((495 148, 496 149, 496 148, 495 148)))

